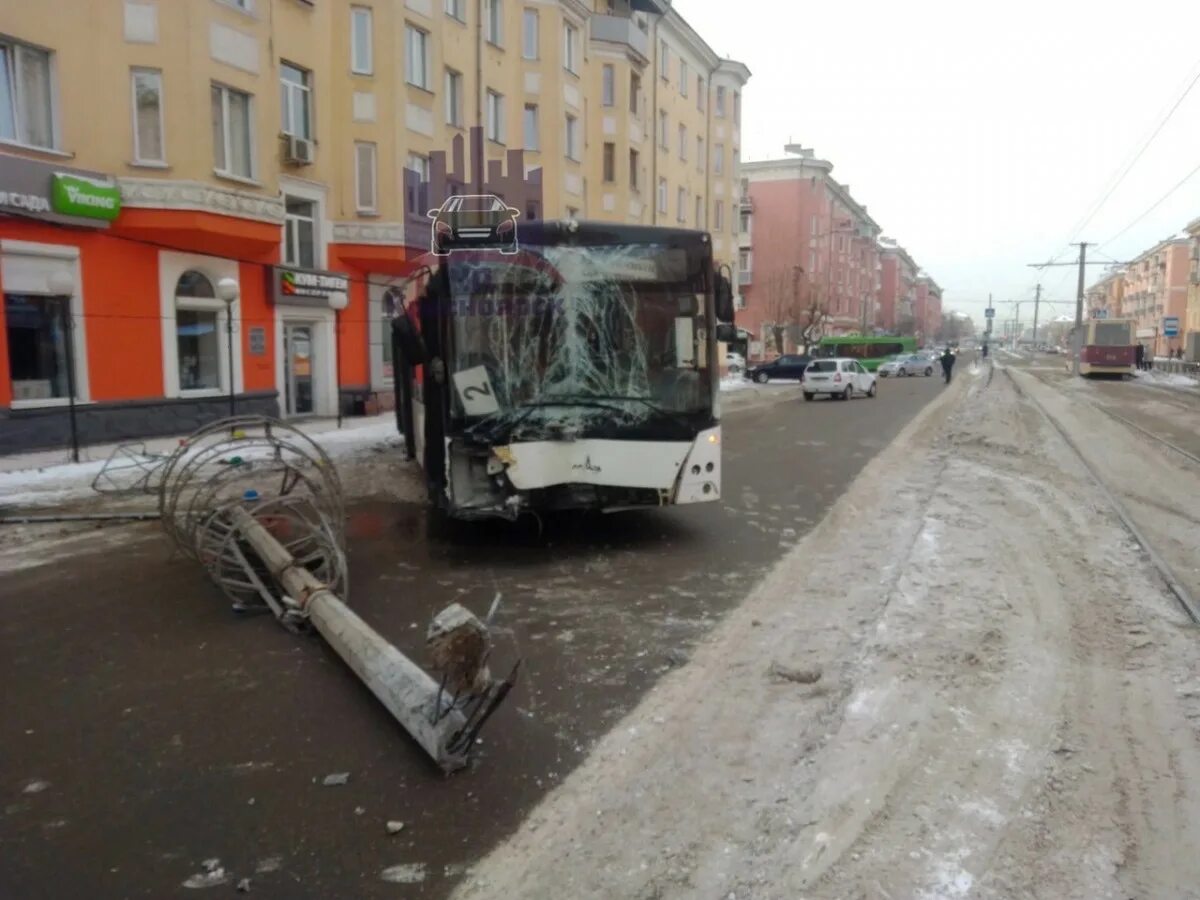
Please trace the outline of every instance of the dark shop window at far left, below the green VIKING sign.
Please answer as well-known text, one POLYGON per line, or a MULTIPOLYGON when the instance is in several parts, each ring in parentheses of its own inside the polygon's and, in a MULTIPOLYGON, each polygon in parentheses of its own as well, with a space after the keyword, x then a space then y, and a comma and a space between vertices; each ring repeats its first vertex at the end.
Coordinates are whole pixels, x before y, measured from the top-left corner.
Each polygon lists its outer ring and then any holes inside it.
POLYGON ((67 396, 70 298, 5 294, 8 374, 14 400, 67 396))

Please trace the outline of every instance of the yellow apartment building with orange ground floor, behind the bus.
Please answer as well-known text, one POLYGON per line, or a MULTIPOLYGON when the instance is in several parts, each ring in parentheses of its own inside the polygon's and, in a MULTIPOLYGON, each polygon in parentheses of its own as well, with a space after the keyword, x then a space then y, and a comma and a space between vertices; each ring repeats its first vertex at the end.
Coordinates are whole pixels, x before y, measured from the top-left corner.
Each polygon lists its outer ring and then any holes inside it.
POLYGON ((472 128, 541 170, 528 212, 708 229, 738 283, 750 72, 665 0, 10 2, 0 67, 0 452, 68 406, 107 439, 386 406, 404 172, 472 128))

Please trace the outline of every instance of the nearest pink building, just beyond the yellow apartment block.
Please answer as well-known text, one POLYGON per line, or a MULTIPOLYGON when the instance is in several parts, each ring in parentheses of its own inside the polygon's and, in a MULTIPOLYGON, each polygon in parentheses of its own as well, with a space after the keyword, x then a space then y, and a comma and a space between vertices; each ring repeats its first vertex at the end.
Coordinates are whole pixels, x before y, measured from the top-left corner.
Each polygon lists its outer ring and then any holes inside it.
POLYGON ((822 335, 870 332, 878 320, 878 224, 832 178, 833 163, 786 151, 793 155, 742 163, 738 325, 754 335, 754 359, 822 335))

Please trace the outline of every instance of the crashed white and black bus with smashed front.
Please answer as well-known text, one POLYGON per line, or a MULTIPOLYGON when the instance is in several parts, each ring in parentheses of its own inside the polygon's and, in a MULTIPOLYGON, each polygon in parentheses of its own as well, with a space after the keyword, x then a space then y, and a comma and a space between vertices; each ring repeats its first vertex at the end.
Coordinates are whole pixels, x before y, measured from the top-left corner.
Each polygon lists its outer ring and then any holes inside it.
POLYGON ((716 500, 730 278, 707 233, 518 226, 391 290, 397 426, 456 518, 716 500))

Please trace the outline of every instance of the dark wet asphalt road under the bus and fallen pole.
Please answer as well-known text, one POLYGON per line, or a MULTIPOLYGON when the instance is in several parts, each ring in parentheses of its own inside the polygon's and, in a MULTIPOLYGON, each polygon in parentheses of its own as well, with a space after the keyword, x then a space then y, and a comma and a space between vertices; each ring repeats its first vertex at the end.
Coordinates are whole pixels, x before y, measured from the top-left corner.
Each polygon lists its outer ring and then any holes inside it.
POLYGON ((450 779, 318 638, 238 619, 158 540, 5 576, 0 898, 196 896, 210 858, 229 881, 200 896, 242 877, 256 896, 446 895, 941 389, 728 414, 719 505, 541 536, 352 508, 350 602, 418 660, 445 602, 504 596, 494 664, 523 656, 522 678, 450 779), (383 881, 396 865, 424 880, 383 881))

